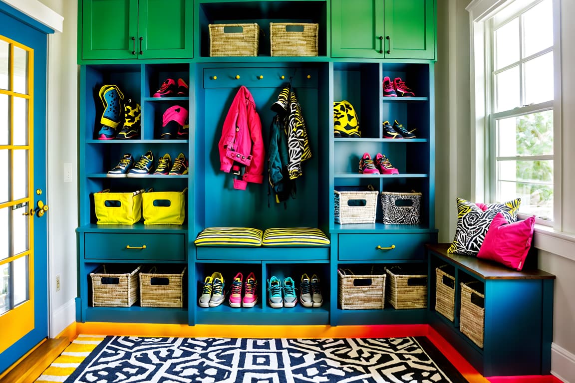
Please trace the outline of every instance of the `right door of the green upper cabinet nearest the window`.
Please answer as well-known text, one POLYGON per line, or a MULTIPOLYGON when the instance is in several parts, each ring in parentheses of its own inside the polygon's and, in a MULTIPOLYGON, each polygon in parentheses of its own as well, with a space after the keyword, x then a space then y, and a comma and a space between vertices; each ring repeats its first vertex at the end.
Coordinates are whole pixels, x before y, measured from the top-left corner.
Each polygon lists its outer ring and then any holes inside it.
POLYGON ((385 58, 435 59, 435 0, 385 0, 385 58))

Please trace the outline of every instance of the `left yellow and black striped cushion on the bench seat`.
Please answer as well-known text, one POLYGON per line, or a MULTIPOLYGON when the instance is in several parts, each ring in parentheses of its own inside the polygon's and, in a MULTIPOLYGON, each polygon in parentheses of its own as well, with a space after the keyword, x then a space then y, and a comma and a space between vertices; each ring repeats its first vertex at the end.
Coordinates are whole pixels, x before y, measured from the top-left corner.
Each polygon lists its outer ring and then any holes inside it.
POLYGON ((251 227, 206 227, 196 246, 262 246, 262 230, 251 227))

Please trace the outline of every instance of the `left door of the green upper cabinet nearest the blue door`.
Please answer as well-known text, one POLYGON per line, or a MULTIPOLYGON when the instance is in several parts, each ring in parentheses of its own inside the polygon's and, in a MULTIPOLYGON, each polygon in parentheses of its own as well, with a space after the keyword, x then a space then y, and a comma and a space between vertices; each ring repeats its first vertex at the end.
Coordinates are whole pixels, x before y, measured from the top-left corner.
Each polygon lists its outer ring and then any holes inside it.
POLYGON ((136 57, 138 0, 82 0, 80 5, 81 60, 136 57))

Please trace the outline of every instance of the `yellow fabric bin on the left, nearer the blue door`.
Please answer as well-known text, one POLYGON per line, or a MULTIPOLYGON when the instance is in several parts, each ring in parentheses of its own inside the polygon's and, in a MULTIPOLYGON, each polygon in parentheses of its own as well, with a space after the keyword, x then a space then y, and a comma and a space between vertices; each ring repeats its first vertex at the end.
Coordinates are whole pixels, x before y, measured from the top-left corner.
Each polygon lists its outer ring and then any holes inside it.
POLYGON ((133 225, 142 218, 142 193, 94 193, 94 209, 98 225, 133 225))

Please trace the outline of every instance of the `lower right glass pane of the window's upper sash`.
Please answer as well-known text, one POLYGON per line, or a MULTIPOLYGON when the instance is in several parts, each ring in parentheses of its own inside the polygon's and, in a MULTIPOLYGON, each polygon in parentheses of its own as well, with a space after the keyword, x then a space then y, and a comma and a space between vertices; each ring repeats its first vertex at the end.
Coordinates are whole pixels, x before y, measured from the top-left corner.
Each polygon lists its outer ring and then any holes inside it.
POLYGON ((553 52, 526 61, 525 103, 540 103, 553 100, 553 52))

